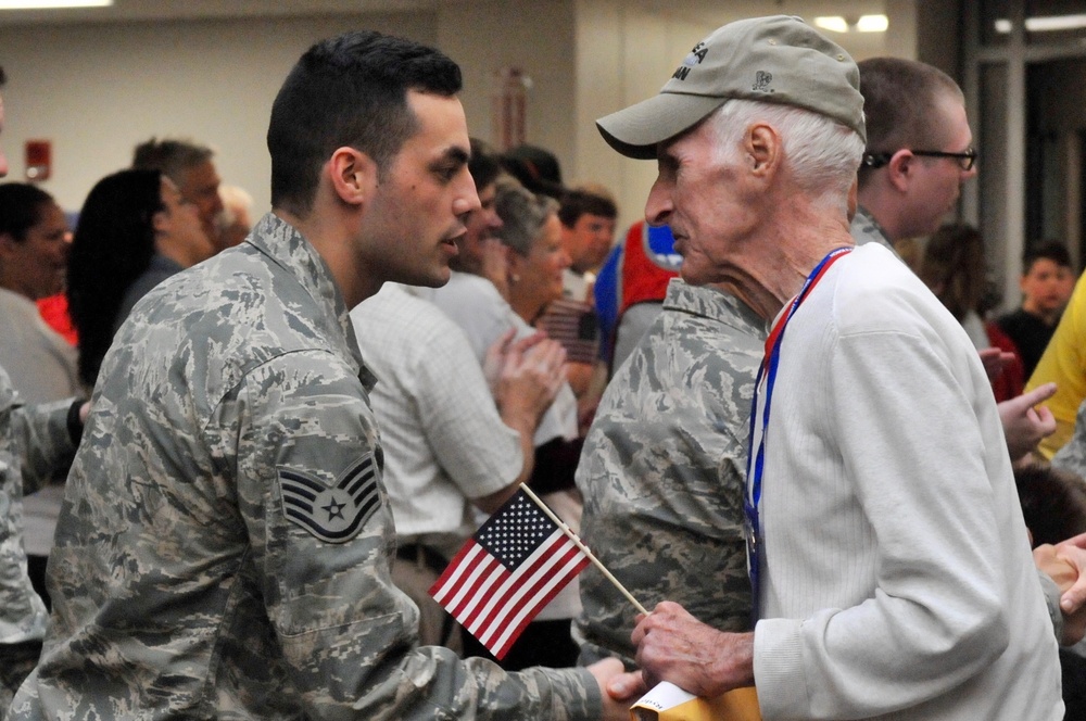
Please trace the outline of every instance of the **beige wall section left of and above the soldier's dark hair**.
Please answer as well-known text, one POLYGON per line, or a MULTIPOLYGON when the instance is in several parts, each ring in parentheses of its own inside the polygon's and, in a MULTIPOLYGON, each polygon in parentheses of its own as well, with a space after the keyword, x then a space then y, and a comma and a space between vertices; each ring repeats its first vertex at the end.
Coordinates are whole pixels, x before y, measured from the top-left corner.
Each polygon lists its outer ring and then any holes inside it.
POLYGON ((41 187, 78 210, 102 176, 125 167, 152 135, 211 143, 224 180, 269 205, 264 137, 272 100, 315 40, 371 27, 425 42, 427 15, 138 22, 0 27, 3 148, 9 179, 23 179, 23 143, 53 141, 53 175, 41 187))

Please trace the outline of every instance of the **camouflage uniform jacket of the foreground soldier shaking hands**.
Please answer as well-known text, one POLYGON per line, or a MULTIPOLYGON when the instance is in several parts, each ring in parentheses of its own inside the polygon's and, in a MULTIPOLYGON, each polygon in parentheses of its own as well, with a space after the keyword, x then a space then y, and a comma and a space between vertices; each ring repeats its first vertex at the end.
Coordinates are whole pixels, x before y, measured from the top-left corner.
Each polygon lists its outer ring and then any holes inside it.
POLYGON ((348 308, 274 215, 160 286, 102 367, 15 719, 585 719, 588 671, 416 648, 348 308))

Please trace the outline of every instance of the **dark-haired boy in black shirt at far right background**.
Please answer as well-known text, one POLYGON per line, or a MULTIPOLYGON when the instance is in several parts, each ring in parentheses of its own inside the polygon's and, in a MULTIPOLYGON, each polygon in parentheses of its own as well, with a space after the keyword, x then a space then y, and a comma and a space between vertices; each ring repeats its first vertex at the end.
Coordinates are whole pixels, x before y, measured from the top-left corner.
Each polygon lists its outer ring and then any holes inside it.
POLYGON ((1022 306, 996 321, 1022 356, 1025 377, 1033 375, 1071 299, 1075 276, 1063 243, 1049 242, 1026 253, 1022 262, 1022 306))

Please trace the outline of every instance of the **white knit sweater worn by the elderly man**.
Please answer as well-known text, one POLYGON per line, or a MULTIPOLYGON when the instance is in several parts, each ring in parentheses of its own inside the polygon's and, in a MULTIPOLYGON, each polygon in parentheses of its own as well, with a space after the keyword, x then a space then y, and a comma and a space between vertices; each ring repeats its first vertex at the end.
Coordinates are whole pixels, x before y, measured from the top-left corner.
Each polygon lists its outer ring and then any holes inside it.
POLYGON ((1063 718, 988 380, 885 249, 842 258, 788 325, 766 443, 767 720, 1063 718))

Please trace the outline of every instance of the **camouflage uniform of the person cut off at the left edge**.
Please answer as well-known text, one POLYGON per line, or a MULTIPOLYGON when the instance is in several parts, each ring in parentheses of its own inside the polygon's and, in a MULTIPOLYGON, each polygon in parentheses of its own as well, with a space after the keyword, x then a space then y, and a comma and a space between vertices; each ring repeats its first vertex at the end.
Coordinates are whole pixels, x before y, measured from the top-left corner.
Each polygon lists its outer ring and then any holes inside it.
POLYGON ((38 660, 49 618, 26 574, 23 495, 71 463, 73 402, 25 406, 0 368, 0 717, 38 660))

